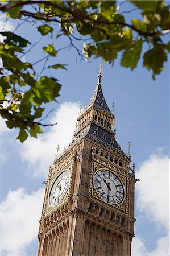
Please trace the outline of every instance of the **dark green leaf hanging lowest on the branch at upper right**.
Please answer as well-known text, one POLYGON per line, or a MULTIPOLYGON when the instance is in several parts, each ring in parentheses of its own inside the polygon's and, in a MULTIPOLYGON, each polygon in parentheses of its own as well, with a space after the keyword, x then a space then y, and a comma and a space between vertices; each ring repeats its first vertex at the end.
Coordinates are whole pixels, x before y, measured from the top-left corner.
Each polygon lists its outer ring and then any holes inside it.
POLYGON ((167 61, 167 54, 164 46, 155 46, 150 51, 144 53, 143 66, 148 70, 152 69, 154 74, 159 74, 163 69, 163 63, 167 61))

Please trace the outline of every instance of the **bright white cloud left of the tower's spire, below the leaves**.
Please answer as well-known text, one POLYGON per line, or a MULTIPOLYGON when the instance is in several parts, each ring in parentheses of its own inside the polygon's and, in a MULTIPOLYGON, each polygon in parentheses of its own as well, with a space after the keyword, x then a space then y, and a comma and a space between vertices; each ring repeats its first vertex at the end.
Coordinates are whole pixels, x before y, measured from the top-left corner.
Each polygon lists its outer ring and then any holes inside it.
POLYGON ((57 125, 51 127, 47 133, 39 135, 38 139, 28 138, 23 143, 20 154, 22 160, 28 162, 28 169, 33 170, 34 176, 47 177, 49 165, 53 163, 57 144, 60 152, 72 141, 73 131, 76 127, 76 119, 79 105, 75 102, 65 102, 53 114, 48 123, 57 125))

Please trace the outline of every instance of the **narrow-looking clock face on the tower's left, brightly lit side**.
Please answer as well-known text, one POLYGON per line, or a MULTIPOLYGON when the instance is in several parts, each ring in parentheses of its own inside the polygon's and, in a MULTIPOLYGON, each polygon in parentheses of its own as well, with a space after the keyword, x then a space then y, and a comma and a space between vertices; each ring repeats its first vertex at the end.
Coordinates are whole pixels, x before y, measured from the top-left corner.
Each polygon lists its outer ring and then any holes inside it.
POLYGON ((49 194, 49 204, 55 206, 63 199, 69 185, 69 172, 64 171, 57 177, 49 194))

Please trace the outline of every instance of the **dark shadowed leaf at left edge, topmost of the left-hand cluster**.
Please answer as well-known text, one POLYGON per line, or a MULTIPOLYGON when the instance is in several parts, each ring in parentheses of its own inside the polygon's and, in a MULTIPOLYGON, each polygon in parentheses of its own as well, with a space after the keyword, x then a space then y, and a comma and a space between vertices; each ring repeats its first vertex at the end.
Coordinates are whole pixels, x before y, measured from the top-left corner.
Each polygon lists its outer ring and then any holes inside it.
POLYGON ((4 40, 5 43, 19 43, 20 47, 26 47, 27 44, 31 44, 28 40, 9 31, 0 32, 0 34, 7 37, 7 39, 4 40))

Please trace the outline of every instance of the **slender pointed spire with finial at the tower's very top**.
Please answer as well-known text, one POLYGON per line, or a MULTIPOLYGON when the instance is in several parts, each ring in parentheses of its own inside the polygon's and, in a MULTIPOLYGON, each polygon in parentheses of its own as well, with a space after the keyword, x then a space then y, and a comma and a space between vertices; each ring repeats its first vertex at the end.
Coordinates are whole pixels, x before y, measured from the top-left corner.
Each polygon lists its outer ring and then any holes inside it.
POLYGON ((102 71, 103 71, 102 64, 100 64, 99 69, 98 69, 98 75, 97 75, 98 82, 96 85, 96 89, 94 90, 93 97, 92 97, 92 99, 90 99, 89 105, 96 104, 96 105, 100 106, 101 108, 110 112, 110 109, 107 106, 105 97, 103 96, 103 92, 102 92, 102 84, 101 84, 102 71))

